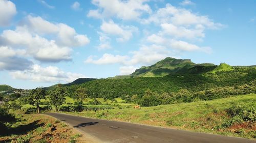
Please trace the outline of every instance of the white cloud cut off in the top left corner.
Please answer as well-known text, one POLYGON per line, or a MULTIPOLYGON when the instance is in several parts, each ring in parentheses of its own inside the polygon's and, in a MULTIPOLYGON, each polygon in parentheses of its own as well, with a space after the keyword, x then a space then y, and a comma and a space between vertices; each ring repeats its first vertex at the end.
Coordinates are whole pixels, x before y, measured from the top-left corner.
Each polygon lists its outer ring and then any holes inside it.
POLYGON ((16 6, 11 1, 0 0, 0 26, 9 25, 12 17, 16 14, 16 6))

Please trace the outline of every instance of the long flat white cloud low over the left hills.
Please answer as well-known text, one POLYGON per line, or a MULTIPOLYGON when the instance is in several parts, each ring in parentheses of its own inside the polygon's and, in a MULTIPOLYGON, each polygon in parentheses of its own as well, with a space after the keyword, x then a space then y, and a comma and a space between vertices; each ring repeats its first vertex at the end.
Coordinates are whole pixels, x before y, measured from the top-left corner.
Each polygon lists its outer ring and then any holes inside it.
POLYGON ((44 68, 39 65, 33 65, 31 69, 24 71, 10 72, 10 75, 14 79, 31 80, 36 82, 72 82, 77 78, 85 77, 82 74, 64 72, 58 67, 48 66, 44 68))

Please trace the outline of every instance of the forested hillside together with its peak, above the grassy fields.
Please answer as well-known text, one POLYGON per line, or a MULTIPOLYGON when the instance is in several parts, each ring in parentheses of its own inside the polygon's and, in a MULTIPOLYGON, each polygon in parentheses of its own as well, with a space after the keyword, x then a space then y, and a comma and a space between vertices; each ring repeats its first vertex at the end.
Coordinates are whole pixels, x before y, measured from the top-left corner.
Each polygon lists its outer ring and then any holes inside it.
POLYGON ((84 88, 90 98, 114 99, 122 97, 131 101, 136 95, 142 98, 146 90, 154 94, 167 94, 172 102, 210 100, 230 95, 255 93, 256 69, 252 67, 231 67, 225 63, 195 64, 190 60, 166 58, 152 66, 142 67, 133 74, 97 79, 79 85, 66 87, 69 96, 77 88, 84 88), (167 71, 167 72, 166 72, 167 71), (168 74, 167 74, 168 73, 168 74), (165 76, 160 76, 164 75, 165 76), (143 77, 154 75, 153 77, 143 77), (155 75, 159 75, 155 76, 155 75))

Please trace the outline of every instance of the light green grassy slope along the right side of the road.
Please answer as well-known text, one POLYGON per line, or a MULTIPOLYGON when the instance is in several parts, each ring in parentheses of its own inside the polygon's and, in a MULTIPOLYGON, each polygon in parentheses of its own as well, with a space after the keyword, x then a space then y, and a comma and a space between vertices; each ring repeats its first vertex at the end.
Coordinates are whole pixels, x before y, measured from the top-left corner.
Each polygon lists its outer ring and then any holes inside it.
POLYGON ((230 119, 225 111, 226 109, 233 105, 255 107, 255 103, 256 95, 250 94, 211 101, 142 107, 141 109, 116 108, 100 110, 97 112, 73 112, 72 114, 91 118, 126 121, 206 133, 255 138, 255 123, 252 123, 251 127, 245 129, 246 133, 236 133, 235 131, 239 130, 236 126, 224 129, 216 128, 230 119))

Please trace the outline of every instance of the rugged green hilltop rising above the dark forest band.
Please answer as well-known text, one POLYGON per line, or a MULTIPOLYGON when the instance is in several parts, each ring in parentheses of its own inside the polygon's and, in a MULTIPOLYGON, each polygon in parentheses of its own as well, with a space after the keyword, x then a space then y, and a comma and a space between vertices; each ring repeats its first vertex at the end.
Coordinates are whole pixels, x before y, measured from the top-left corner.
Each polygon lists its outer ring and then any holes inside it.
POLYGON ((230 66, 221 63, 219 66, 211 63, 196 64, 190 59, 175 59, 167 57, 151 66, 142 66, 130 75, 115 76, 115 79, 133 77, 164 77, 169 74, 202 74, 231 71, 234 68, 254 68, 255 66, 230 66))

